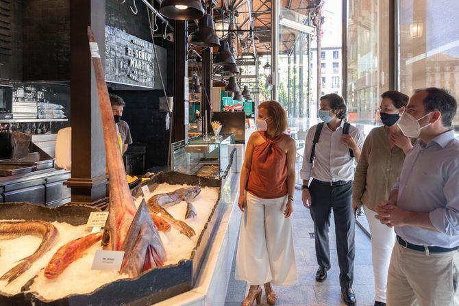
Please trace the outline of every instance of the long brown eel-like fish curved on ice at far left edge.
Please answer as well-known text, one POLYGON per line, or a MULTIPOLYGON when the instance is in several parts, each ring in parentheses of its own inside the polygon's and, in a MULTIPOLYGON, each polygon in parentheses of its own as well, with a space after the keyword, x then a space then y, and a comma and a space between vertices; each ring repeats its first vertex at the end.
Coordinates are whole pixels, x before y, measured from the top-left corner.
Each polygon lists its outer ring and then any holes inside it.
POLYGON ((43 254, 47 253, 49 249, 55 244, 58 239, 58 229, 49 222, 42 221, 11 221, 0 222, 0 235, 5 236, 25 236, 25 235, 38 235, 42 237, 40 246, 36 249, 35 253, 21 259, 22 262, 14 266, 11 270, 6 272, 1 281, 8 280, 8 283, 14 281, 23 272, 27 271, 34 262, 43 254))

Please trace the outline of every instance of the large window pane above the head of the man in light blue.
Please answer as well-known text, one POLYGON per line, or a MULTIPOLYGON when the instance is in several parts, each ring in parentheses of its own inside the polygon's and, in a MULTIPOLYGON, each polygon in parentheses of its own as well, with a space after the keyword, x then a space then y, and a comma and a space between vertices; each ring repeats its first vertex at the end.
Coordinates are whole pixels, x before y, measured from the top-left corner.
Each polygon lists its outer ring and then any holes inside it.
MULTIPOLYGON (((459 92, 459 1, 399 0, 399 88, 459 92)), ((459 114, 453 124, 459 128, 459 114)))

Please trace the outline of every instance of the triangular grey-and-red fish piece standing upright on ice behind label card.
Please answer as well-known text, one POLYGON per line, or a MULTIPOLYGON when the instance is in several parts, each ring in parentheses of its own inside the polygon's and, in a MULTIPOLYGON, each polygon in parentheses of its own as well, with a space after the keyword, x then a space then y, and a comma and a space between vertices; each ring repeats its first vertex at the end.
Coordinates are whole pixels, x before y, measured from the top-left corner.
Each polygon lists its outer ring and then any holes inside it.
POLYGON ((129 277, 137 277, 143 271, 162 266, 166 261, 166 250, 145 201, 138 207, 121 251, 125 252, 125 256, 120 272, 127 273, 129 277))

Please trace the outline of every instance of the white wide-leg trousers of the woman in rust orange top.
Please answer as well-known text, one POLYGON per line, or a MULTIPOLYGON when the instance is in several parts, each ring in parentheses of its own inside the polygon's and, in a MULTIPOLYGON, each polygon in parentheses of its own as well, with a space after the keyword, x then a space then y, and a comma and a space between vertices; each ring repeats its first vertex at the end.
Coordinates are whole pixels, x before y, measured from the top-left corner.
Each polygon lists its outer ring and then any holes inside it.
POLYGON ((236 279, 249 285, 297 283, 292 217, 284 216, 286 200, 286 196, 267 200, 247 193, 247 207, 240 222, 236 279))

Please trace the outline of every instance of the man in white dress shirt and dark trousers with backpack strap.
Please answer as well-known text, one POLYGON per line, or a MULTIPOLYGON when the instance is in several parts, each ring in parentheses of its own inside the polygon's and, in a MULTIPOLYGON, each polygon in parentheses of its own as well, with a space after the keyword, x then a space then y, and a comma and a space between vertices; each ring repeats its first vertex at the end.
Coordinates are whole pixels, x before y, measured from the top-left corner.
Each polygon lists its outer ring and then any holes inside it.
POLYGON ((330 270, 328 229, 333 209, 336 231, 340 286, 343 301, 356 303, 352 291, 355 255, 352 209, 354 160, 358 161, 364 142, 360 131, 343 120, 344 99, 338 94, 321 97, 319 117, 323 123, 308 131, 300 175, 303 179, 303 205, 314 220, 317 270, 316 280, 324 281, 330 270), (310 179, 312 182, 309 184, 310 179))

